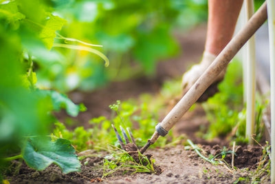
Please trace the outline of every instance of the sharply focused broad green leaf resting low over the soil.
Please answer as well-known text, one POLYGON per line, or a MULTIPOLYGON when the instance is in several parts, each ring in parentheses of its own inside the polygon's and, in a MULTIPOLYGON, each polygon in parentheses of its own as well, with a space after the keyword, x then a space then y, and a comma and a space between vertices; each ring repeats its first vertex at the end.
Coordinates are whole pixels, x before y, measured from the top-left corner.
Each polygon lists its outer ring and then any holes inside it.
POLYGON ((25 163, 35 170, 45 170, 54 163, 67 174, 80 171, 81 167, 74 147, 66 139, 30 138, 23 147, 22 155, 25 163))

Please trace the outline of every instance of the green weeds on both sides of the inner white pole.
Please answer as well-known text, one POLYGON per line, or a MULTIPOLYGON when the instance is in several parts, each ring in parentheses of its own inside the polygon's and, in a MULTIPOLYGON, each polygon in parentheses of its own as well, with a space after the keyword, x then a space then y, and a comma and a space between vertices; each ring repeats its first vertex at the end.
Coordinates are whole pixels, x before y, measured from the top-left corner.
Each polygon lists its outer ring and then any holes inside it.
MULTIPOLYGON (((243 83, 241 76, 241 63, 232 61, 228 65, 225 79, 219 84, 219 92, 203 103, 203 109, 210 125, 205 139, 217 136, 232 136, 237 143, 247 142, 245 139, 245 109, 243 108, 243 83)), ((261 116, 265 105, 261 96, 256 99, 256 134, 257 140, 263 136, 263 123, 261 116)))

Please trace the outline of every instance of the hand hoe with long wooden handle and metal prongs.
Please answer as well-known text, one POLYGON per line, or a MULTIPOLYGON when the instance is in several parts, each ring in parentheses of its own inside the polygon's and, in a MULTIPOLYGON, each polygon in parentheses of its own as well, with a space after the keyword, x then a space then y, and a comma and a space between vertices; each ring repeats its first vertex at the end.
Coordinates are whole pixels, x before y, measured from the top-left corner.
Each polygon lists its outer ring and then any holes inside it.
MULTIPOLYGON (((267 3, 263 3, 261 8, 254 13, 251 19, 246 23, 246 25, 239 31, 238 34, 225 46, 218 57, 212 62, 212 64, 207 68, 203 74, 197 79, 194 85, 186 92, 186 94, 181 98, 181 100, 175 105, 175 107, 170 110, 170 112, 165 116, 161 123, 158 123, 155 127, 155 132, 151 139, 148 139, 146 145, 140 149, 140 153, 144 153, 150 145, 157 141, 159 136, 165 136, 168 131, 179 121, 181 116, 183 116, 189 108, 199 99, 201 94, 207 90, 207 88, 214 82, 215 78, 219 73, 224 70, 231 59, 236 55, 236 53, 243 47, 243 45, 252 37, 252 35, 258 30, 261 25, 267 19, 267 3)), ((113 127, 115 130, 115 127, 113 127)), ((137 151, 137 146, 135 145, 133 136, 131 132, 131 140, 133 143, 129 142, 126 136, 126 132, 120 127, 122 134, 126 141, 126 145, 122 142, 118 132, 115 133, 118 137, 120 145, 123 150, 126 151, 137 151), (130 146, 130 147, 128 147, 130 146)))

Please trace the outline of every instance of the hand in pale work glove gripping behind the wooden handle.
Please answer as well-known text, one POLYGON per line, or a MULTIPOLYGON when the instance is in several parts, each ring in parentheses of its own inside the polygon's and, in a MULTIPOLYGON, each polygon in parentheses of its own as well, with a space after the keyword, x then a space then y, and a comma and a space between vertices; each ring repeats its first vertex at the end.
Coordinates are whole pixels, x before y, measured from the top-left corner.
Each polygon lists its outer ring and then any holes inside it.
MULTIPOLYGON (((197 79, 199 79, 199 76, 203 74, 203 72, 208 68, 212 61, 214 61, 214 59, 216 59, 216 56, 214 54, 203 52, 201 62, 199 64, 193 65, 190 70, 184 73, 181 83, 183 94, 186 94, 186 92, 188 92, 188 90, 197 81, 197 79)), ((197 100, 198 102, 206 101, 209 97, 213 96, 216 92, 219 91, 217 85, 220 81, 223 80, 225 72, 226 70, 223 70, 219 74, 219 76, 217 76, 217 79, 214 81, 214 83, 209 86, 209 88, 201 95, 201 97, 199 97, 199 99, 197 100)))

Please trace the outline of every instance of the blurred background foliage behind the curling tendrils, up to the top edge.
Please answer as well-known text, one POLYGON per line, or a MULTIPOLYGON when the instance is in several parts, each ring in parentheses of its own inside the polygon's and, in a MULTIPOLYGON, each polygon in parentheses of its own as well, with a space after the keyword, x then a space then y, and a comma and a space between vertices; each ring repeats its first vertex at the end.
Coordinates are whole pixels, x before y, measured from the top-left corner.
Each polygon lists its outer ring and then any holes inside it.
POLYGON ((67 20, 61 34, 103 45, 100 51, 110 60, 104 68, 94 54, 58 50, 63 59, 41 66, 38 78, 39 85, 63 91, 92 90, 108 81, 152 76, 158 61, 179 51, 173 29, 190 28, 207 18, 206 0, 52 2, 56 14, 67 20))

